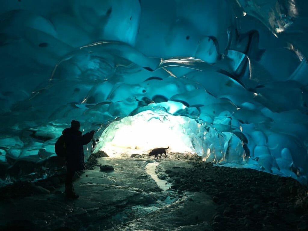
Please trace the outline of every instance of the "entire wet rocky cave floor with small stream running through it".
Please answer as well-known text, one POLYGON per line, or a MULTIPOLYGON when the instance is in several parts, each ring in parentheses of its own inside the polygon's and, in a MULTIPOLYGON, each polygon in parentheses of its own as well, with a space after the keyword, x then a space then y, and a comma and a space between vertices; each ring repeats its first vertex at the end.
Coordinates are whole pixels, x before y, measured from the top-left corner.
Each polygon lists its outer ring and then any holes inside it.
POLYGON ((179 153, 104 156, 76 176, 77 200, 64 174, 1 188, 0 230, 308 230, 307 188, 294 179, 179 153))

